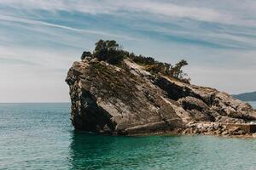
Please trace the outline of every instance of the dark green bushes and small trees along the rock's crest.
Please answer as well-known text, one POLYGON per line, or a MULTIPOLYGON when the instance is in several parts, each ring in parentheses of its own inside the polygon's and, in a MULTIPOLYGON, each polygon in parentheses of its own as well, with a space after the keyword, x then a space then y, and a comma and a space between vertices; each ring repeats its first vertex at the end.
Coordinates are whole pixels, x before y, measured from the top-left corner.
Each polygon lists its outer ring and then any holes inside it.
POLYGON ((84 51, 81 56, 82 60, 90 57, 106 61, 111 65, 120 65, 123 59, 131 59, 138 65, 143 65, 144 69, 152 74, 161 74, 181 82, 190 82, 190 78, 188 78, 187 74, 182 70, 183 66, 188 65, 188 62, 184 59, 175 65, 171 65, 169 63, 157 61, 152 57, 129 53, 128 51, 123 50, 114 40, 99 40, 95 45, 96 48, 92 54, 88 51, 84 51))

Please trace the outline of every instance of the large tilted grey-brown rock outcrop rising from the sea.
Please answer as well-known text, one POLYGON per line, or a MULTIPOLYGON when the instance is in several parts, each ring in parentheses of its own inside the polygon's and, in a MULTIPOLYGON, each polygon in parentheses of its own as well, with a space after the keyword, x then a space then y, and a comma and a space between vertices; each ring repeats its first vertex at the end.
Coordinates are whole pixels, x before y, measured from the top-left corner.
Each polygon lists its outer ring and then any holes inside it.
POLYGON ((85 131, 116 135, 195 133, 198 122, 256 120, 250 105, 229 94, 152 75, 130 59, 124 59, 122 68, 90 58, 74 62, 66 82, 73 126, 85 131))

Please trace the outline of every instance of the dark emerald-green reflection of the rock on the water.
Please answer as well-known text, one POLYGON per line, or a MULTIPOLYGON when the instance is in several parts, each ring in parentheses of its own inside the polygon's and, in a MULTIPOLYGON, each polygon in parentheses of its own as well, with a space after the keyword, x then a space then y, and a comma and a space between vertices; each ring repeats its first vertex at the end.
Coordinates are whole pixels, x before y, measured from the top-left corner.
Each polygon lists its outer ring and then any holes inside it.
MULTIPOLYGON (((73 169, 137 167, 150 161, 150 156, 160 156, 157 154, 158 147, 152 147, 160 141, 155 137, 113 137, 73 131, 72 139, 70 154, 73 169)), ((178 147, 178 144, 173 144, 173 147, 178 147)))

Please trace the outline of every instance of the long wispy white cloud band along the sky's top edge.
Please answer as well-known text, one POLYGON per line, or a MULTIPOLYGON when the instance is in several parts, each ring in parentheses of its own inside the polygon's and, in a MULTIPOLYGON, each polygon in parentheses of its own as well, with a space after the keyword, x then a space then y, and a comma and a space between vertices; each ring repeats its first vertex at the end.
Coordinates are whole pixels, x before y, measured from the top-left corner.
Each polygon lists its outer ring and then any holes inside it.
MULTIPOLYGON (((177 3, 177 1, 150 1, 150 0, 131 0, 131 1, 113 1, 113 0, 59 0, 59 1, 38 1, 38 0, 2 0, 3 5, 12 8, 26 8, 27 10, 42 9, 51 12, 67 11, 67 12, 80 12, 86 14, 122 14, 129 12, 131 14, 151 14, 151 16, 164 16, 166 20, 168 17, 179 17, 191 20, 202 20, 216 23, 227 23, 234 25, 250 25, 255 26, 255 20, 246 18, 240 11, 237 14, 232 11, 232 8, 223 8, 222 3, 219 3, 218 8, 202 6, 200 1, 193 1, 186 5, 187 2, 183 2, 183 5, 177 3), (225 10, 228 9, 228 10, 225 10)), ((238 1, 229 1, 225 3, 228 7, 232 7, 238 4, 238 1)), ((253 1, 251 1, 253 3, 253 1)), ((255 3, 254 3, 255 4, 255 3)), ((236 7, 239 5, 236 5, 236 7)), ((248 6, 248 5, 247 5, 248 6)), ((244 7, 244 4, 241 5, 244 7)), ((252 7, 252 6, 251 6, 252 7)), ((239 8, 238 8, 239 9, 239 8)), ((236 9, 236 11, 239 11, 236 9)), ((252 8, 251 8, 251 11, 252 8)))

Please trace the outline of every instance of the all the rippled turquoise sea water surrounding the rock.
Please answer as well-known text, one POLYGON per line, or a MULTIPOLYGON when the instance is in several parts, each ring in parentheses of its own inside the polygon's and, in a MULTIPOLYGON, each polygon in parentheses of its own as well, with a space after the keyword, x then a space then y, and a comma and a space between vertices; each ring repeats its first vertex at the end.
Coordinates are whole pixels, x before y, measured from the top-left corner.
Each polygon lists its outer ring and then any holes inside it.
POLYGON ((256 139, 99 136, 69 107, 0 104, 0 169, 256 169, 256 139))

